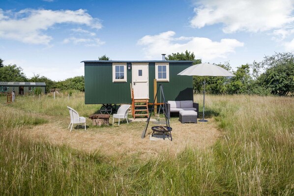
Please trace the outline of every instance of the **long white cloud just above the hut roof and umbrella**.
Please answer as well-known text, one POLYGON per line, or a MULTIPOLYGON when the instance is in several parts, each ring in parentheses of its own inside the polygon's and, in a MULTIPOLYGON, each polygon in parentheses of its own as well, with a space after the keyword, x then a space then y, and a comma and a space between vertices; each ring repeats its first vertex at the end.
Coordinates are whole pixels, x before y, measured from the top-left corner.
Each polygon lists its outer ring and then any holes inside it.
POLYGON ((156 58, 163 53, 172 54, 188 50, 203 61, 218 57, 226 58, 229 53, 235 52, 236 47, 244 45, 236 39, 221 39, 215 42, 205 37, 176 38, 175 34, 174 31, 167 31, 157 35, 146 35, 138 41, 138 44, 144 46, 143 51, 148 59, 156 58))

